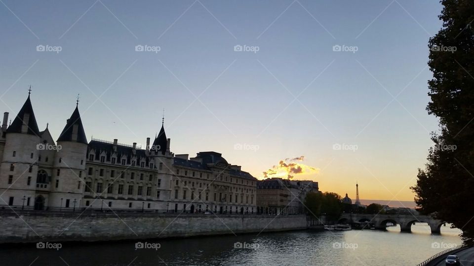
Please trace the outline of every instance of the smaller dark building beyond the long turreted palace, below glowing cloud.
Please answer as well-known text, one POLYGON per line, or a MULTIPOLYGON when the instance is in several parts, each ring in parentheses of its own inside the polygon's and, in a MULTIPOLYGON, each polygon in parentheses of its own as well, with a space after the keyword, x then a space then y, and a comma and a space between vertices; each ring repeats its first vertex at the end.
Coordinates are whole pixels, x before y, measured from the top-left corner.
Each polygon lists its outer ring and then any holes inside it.
POLYGON ((258 212, 264 214, 305 213, 306 194, 319 192, 317 182, 268 178, 257 182, 258 212))

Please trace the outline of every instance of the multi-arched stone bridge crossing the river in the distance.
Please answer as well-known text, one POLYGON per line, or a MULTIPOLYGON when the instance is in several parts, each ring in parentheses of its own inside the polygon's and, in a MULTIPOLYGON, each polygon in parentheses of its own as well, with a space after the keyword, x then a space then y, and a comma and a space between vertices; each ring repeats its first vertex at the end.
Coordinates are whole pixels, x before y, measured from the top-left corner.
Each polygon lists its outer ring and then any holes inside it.
POLYGON ((362 214, 362 213, 343 213, 338 223, 364 223, 369 222, 375 225, 377 230, 386 230, 387 223, 399 225, 402 232, 411 233, 411 226, 415 223, 427 223, 431 228, 431 233, 440 233, 441 226, 446 222, 436 220, 429 215, 412 214, 362 214))

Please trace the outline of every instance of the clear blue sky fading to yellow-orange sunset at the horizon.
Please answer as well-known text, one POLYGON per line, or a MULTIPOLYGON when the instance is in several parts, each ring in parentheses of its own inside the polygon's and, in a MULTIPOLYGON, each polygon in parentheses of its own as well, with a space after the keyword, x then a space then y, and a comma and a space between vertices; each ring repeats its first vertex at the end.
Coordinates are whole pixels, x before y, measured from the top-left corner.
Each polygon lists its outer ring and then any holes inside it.
POLYGON ((361 199, 414 198, 438 129, 426 111, 438 1, 0 2, 10 118, 31 85, 56 139, 79 94, 88 140, 143 145, 164 109, 175 154, 216 151, 259 179, 353 199, 356 182, 361 199))

